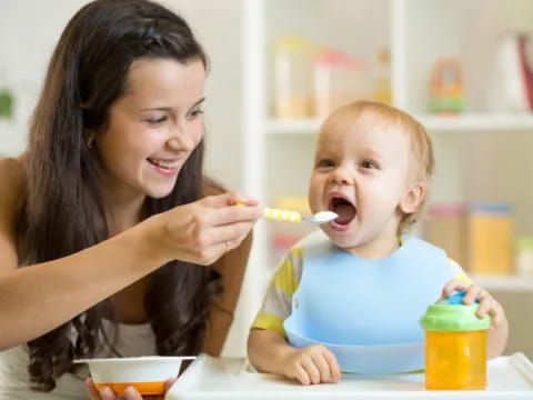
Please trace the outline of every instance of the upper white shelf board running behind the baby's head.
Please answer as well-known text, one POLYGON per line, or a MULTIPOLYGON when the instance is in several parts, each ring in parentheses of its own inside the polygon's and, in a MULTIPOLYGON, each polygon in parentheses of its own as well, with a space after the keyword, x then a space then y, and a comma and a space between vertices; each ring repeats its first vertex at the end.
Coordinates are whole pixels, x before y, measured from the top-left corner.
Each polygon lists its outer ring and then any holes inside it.
MULTIPOLYGON (((467 113, 450 117, 419 114, 415 118, 430 131, 533 131, 533 114, 467 113)), ((269 136, 315 134, 323 120, 323 118, 269 119, 265 131, 269 136)))

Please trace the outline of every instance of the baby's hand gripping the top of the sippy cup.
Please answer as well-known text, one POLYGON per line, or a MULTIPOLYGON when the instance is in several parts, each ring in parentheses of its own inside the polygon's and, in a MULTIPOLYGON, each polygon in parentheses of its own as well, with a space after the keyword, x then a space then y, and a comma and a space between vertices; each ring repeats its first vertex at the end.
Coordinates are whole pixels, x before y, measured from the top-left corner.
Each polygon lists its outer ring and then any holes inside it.
POLYGON ((486 314, 492 317, 492 326, 497 326, 505 318, 503 308, 500 303, 482 287, 475 283, 470 283, 456 279, 449 281, 444 289, 442 289, 441 300, 449 297, 453 291, 465 290, 466 294, 463 297, 464 304, 471 304, 475 300, 480 302, 477 309, 477 317, 484 318, 486 314))

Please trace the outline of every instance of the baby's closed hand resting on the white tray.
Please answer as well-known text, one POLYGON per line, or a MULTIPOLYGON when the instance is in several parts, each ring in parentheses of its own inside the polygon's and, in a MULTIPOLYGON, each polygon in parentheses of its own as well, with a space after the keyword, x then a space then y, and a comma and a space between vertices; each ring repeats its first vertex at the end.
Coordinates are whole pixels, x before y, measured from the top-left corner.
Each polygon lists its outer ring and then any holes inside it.
POLYGON ((282 368, 283 374, 302 384, 339 382, 341 369, 335 356, 321 344, 291 349, 282 368))

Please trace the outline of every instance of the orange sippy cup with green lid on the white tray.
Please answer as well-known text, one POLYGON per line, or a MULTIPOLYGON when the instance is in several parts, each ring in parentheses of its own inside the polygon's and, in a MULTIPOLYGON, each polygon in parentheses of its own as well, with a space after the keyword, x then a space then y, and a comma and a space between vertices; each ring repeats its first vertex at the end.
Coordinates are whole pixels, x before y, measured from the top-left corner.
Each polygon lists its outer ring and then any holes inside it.
POLYGON ((431 304, 420 320, 425 330, 425 388, 476 390, 486 386, 486 330, 489 316, 480 319, 479 303, 463 304, 457 292, 431 304))

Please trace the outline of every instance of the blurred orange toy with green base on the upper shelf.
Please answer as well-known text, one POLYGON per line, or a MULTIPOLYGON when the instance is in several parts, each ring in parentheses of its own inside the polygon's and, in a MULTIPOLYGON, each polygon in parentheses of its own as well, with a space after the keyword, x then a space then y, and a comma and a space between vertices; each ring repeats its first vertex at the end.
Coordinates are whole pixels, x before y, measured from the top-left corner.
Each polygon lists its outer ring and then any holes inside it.
POLYGON ((436 61, 431 78, 430 109, 432 112, 452 114, 464 110, 464 90, 457 60, 436 61))

